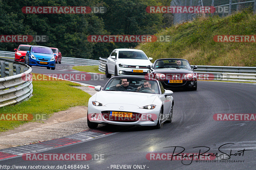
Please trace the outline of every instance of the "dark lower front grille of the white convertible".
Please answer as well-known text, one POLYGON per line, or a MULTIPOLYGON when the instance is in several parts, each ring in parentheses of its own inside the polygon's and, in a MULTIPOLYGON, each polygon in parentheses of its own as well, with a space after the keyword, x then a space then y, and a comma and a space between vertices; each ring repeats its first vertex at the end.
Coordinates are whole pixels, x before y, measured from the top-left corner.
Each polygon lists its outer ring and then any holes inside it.
MULTIPOLYGON (((116 111, 116 112, 120 112, 120 111, 116 111)), ((141 117, 141 114, 133 113, 133 112, 132 112, 132 117, 126 117, 126 118, 119 117, 119 116, 110 116, 110 111, 102 111, 101 114, 106 120, 113 121, 113 122, 137 122, 141 117)))

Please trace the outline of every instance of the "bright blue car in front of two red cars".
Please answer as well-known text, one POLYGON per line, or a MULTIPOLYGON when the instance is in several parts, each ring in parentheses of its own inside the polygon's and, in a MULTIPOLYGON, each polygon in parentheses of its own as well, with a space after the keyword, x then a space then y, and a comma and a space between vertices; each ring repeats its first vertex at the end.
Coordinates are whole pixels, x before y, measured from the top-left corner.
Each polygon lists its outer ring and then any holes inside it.
POLYGON ((55 70, 55 55, 49 47, 31 46, 25 56, 25 64, 55 70))

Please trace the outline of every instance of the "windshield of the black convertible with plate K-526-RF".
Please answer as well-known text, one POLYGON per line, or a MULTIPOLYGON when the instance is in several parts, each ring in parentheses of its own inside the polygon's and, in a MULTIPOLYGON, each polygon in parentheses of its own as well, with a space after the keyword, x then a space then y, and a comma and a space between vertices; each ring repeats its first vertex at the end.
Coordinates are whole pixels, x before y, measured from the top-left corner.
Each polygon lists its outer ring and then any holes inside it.
POLYGON ((154 69, 163 68, 176 68, 176 69, 191 69, 190 64, 187 60, 182 59, 166 59, 158 60, 154 65, 154 69))

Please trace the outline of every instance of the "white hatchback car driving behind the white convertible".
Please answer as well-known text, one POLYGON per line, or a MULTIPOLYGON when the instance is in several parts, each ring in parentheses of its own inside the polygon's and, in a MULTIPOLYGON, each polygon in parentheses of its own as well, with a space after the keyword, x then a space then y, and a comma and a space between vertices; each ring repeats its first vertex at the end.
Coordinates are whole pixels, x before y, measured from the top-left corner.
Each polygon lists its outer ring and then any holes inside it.
POLYGON ((106 63, 106 77, 111 74, 115 76, 145 76, 148 73, 148 65, 152 65, 153 60, 139 49, 119 48, 114 49, 109 55, 106 63))

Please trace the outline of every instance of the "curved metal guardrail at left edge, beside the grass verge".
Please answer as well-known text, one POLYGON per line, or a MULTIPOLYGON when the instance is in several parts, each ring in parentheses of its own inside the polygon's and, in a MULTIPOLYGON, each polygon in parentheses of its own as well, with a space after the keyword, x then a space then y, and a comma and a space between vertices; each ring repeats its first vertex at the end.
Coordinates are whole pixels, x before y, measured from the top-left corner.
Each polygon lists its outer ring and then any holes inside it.
POLYGON ((33 92, 32 68, 10 60, 0 61, 0 107, 28 99, 33 92))

